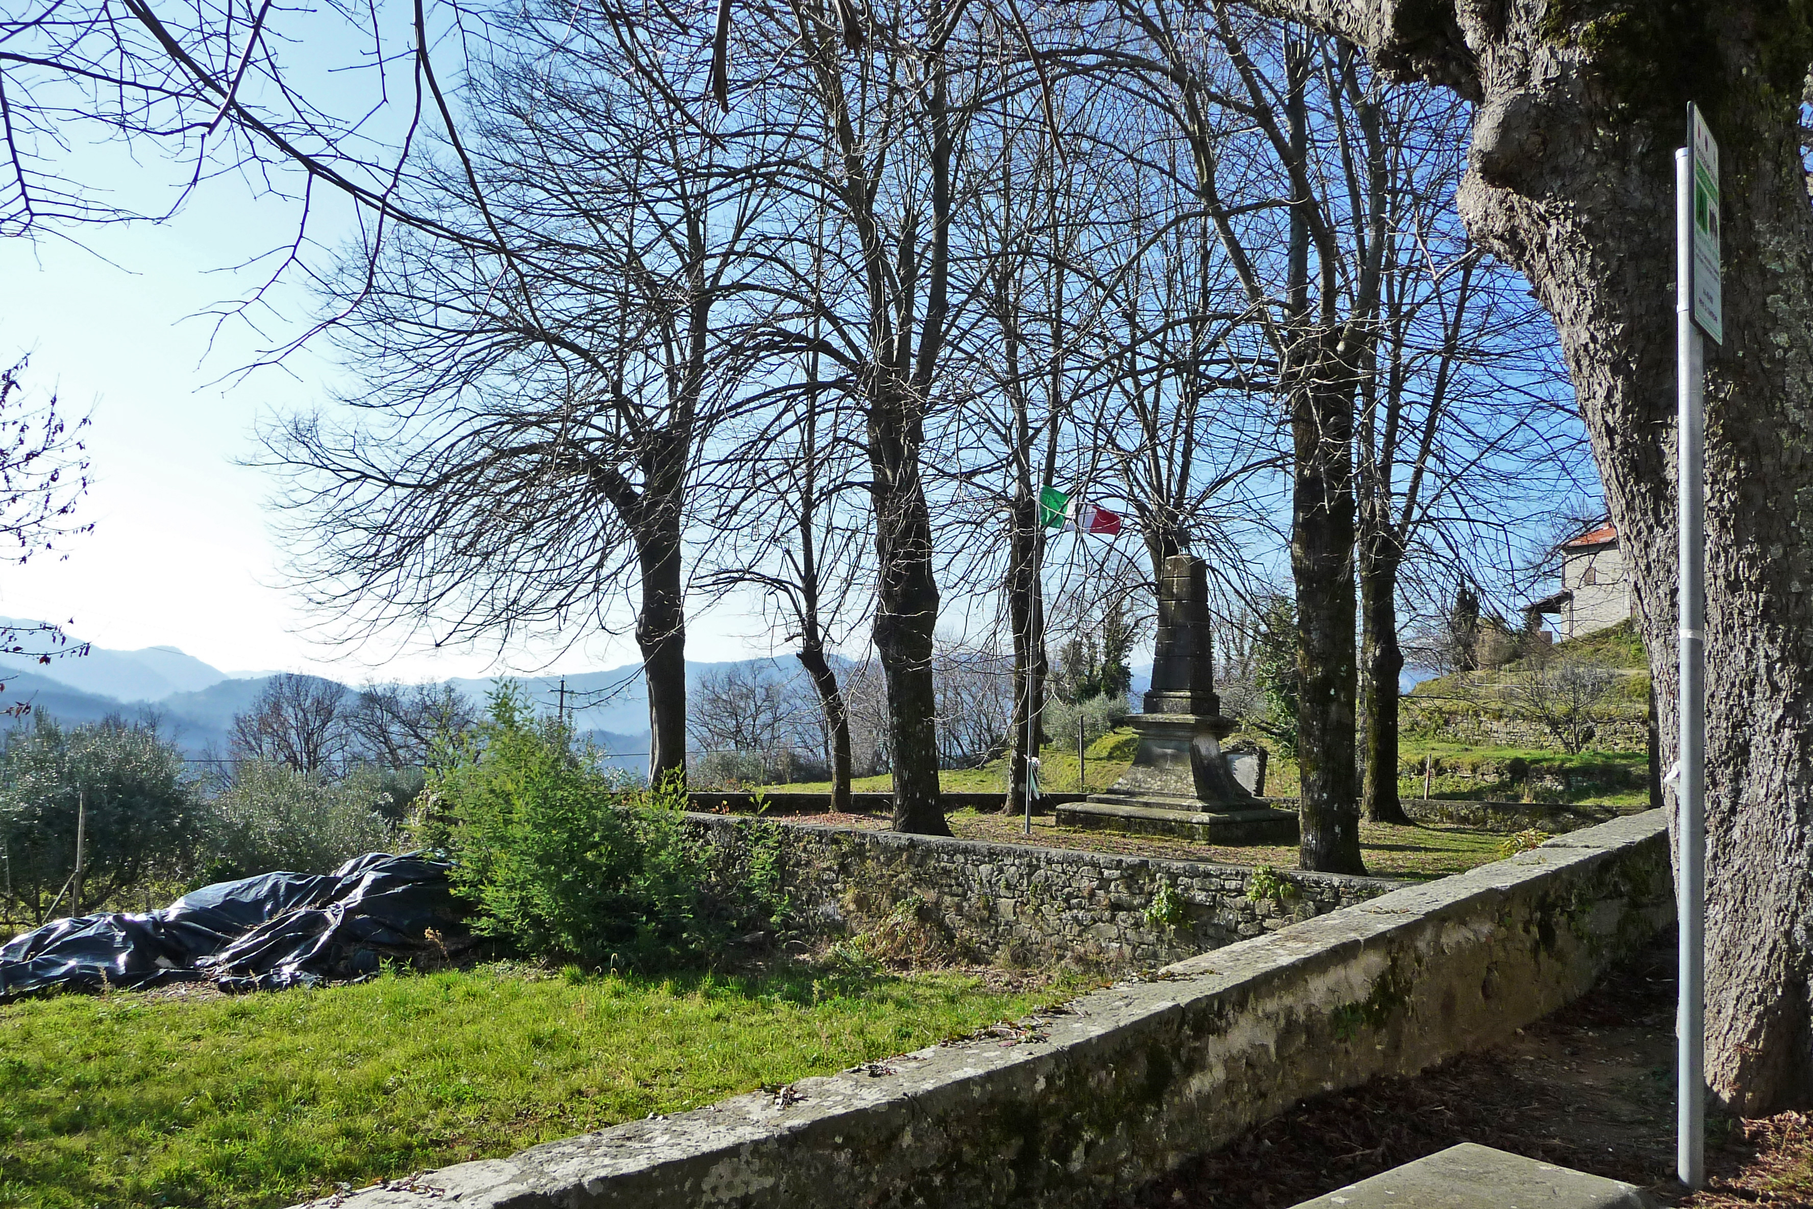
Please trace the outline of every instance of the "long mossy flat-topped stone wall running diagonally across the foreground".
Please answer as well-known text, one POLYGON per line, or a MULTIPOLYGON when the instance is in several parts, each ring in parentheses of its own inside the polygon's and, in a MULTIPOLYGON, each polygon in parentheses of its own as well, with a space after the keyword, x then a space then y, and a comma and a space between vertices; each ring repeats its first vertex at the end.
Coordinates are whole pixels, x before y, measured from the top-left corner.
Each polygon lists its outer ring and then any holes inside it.
POLYGON ((422 1173, 344 1209, 1097 1209, 1305 1095, 1490 1046, 1673 917, 1659 810, 776 1095, 422 1173))

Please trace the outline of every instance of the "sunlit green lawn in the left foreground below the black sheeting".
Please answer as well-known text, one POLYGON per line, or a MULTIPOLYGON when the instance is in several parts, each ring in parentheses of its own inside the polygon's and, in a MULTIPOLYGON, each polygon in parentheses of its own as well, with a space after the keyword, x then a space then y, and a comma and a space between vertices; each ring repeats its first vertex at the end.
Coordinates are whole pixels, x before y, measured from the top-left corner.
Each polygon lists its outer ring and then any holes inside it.
POLYGON ((0 1008, 0 1205, 288 1205, 1017 1017, 975 977, 549 977, 0 1008))

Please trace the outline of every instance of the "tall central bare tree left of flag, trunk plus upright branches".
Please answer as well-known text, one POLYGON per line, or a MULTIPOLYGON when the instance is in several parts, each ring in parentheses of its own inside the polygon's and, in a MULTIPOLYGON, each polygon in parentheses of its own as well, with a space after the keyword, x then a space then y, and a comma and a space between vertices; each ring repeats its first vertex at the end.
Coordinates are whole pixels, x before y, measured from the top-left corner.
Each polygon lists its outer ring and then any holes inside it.
MULTIPOLYGON (((794 40, 800 112, 810 114, 816 154, 800 156, 803 189, 827 207, 832 265, 850 297, 812 297, 809 324, 861 401, 876 540, 874 645, 887 672, 894 828, 948 834, 937 788, 937 700, 932 633, 939 591, 921 451, 925 417, 952 328, 950 236, 961 83, 950 40, 963 7, 941 2, 872 15, 888 29, 854 54, 843 22, 819 0, 776 13, 776 44, 794 40), (783 33, 785 31, 785 33, 783 33), (906 40, 916 47, 912 67, 906 40)), ((792 85, 792 73, 774 85, 792 85)), ((807 230, 816 230, 807 227, 807 230)), ((798 290, 809 295, 809 290, 798 290)), ((801 337, 810 339, 810 337, 801 337)))

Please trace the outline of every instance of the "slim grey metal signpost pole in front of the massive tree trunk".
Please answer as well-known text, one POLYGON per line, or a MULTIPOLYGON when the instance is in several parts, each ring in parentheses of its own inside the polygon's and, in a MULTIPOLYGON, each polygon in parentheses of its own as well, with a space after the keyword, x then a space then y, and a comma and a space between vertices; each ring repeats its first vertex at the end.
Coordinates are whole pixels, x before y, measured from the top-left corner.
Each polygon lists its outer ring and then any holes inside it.
MULTIPOLYGON (((1675 1169, 1681 1182, 1697 1189, 1706 1178, 1706 1002, 1704 1002, 1704 944, 1706 944, 1706 817, 1704 817, 1704 761, 1706 761, 1706 634, 1704 634, 1704 344, 1695 324, 1695 147, 1699 125, 1690 107, 1690 147, 1675 152, 1675 377, 1679 392, 1677 459, 1681 508, 1681 763, 1675 781, 1675 859, 1677 917, 1681 923, 1679 993, 1675 1011, 1675 1169)), ((1710 141, 1710 140, 1708 140, 1710 141)), ((1713 167, 1717 181, 1717 167, 1713 167)), ((1717 194, 1713 194, 1717 207, 1717 194)), ((1717 210, 1713 210, 1717 212, 1717 210)), ((1713 261, 1717 265, 1717 261, 1713 261)))

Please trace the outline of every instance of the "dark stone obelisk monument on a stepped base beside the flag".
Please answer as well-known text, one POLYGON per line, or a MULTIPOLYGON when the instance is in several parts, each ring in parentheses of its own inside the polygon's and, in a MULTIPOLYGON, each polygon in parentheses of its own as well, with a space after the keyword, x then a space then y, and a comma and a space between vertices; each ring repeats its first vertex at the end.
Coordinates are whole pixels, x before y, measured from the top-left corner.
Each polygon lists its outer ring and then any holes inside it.
POLYGON ((1235 779, 1222 740, 1235 729, 1215 696, 1209 573, 1193 555, 1164 560, 1159 636, 1133 765, 1113 788, 1057 808, 1057 821, 1188 836, 1226 845, 1296 843, 1296 812, 1265 805, 1235 779))

